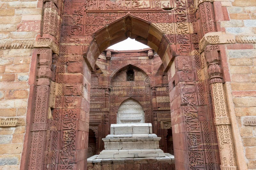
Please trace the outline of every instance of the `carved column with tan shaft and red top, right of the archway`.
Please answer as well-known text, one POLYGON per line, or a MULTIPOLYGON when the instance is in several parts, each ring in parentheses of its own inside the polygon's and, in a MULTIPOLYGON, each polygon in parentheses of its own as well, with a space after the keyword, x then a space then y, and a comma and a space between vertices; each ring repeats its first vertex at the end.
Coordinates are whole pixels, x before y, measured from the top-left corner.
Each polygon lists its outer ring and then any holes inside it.
POLYGON ((236 170, 234 144, 222 84, 220 56, 218 51, 220 51, 218 45, 206 46, 204 54, 210 75, 209 83, 212 96, 214 124, 220 151, 220 168, 221 170, 236 170))

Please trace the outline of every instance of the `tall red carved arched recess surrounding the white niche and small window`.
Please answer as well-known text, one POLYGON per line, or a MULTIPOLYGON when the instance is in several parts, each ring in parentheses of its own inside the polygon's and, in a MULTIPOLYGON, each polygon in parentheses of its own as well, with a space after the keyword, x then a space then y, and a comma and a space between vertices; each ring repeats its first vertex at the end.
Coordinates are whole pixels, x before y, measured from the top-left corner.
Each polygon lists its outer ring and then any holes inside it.
POLYGON ((113 72, 112 77, 110 79, 110 115, 112 115, 111 123, 116 123, 118 106, 130 97, 132 97, 139 103, 142 102, 140 103, 140 105, 145 111, 145 122, 152 123, 150 116, 152 110, 149 95, 149 75, 146 74, 146 72, 141 68, 128 64, 124 67, 116 69, 115 72, 113 72), (134 81, 127 81, 125 78, 126 71, 129 68, 133 68, 133 70, 135 71, 134 81))

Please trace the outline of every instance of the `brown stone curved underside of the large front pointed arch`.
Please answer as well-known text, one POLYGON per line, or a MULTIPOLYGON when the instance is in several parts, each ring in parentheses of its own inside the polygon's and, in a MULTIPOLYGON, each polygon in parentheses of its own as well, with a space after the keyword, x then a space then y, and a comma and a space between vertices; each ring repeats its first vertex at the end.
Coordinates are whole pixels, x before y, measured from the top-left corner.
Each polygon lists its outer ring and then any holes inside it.
POLYGON ((173 51, 169 39, 156 25, 130 14, 104 26, 95 33, 90 45, 85 47, 83 56, 94 68, 96 60, 109 46, 123 41, 128 37, 135 39, 158 53, 165 69, 170 66, 176 53, 173 51))

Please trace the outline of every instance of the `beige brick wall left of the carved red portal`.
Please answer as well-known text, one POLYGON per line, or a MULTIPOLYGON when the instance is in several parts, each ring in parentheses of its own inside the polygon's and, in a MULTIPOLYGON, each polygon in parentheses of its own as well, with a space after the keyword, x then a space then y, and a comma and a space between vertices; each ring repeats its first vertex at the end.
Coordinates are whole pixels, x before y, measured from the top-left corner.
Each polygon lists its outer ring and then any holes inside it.
POLYGON ((40 32, 42 1, 0 0, 0 169, 19 169, 25 134, 29 68, 33 42, 40 32), (30 47, 30 48, 27 48, 30 47))

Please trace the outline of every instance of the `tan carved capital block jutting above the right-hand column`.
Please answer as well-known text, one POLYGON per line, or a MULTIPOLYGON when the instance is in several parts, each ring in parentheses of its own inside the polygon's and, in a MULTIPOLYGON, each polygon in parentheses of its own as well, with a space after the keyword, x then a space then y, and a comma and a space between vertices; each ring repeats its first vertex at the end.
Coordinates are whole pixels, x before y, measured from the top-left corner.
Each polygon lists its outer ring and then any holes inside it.
POLYGON ((222 32, 209 32, 199 41, 199 51, 202 53, 206 46, 211 44, 236 43, 232 34, 222 34, 222 32))

